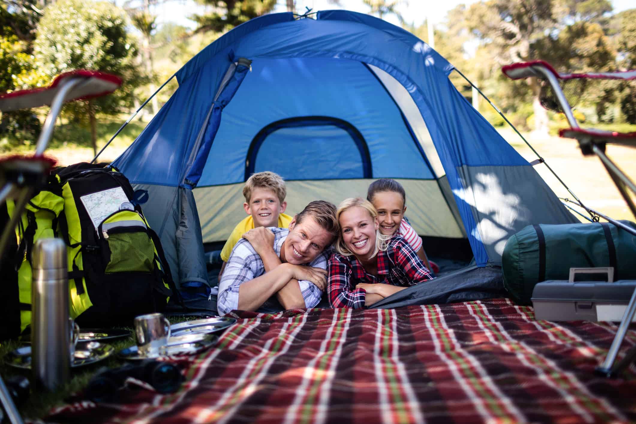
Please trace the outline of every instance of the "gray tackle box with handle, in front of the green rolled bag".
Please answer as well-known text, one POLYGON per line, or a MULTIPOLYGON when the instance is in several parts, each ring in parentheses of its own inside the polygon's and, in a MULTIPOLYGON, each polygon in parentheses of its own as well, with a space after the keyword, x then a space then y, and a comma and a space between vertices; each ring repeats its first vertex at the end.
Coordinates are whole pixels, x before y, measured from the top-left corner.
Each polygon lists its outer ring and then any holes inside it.
MULTIPOLYGON (((611 275, 608 277, 612 280, 611 275)), ((636 280, 546 280, 532 291, 534 317, 549 321, 620 321, 634 289, 636 280)))

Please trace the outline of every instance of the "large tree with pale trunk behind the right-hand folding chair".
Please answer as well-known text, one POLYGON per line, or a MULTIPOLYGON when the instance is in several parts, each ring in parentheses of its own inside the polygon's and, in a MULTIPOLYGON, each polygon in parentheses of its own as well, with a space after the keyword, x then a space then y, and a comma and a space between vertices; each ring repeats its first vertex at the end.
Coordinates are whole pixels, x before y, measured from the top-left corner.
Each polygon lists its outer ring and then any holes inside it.
MULTIPOLYGON (((474 3, 466 17, 473 34, 493 53, 496 68, 543 59, 571 72, 609 71, 615 53, 604 25, 611 10, 607 0, 492 0, 474 3)), ((532 78, 527 84, 535 130, 547 133, 540 83, 532 78)), ((610 100, 602 99, 600 104, 610 100)))

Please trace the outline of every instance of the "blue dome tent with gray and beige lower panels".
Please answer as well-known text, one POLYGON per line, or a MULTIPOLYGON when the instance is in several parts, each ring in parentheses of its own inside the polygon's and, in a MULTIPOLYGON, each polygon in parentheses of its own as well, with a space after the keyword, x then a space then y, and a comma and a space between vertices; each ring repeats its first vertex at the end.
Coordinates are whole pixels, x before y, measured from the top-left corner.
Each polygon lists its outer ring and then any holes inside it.
POLYGON ((477 266, 500 264, 523 227, 578 221, 457 92, 452 71, 413 34, 368 15, 265 15, 184 65, 179 88, 114 165, 149 191, 144 212, 177 284, 207 283, 203 243, 227 238, 245 216, 245 179, 263 170, 286 179, 290 214, 394 178, 420 235, 467 239, 477 266))

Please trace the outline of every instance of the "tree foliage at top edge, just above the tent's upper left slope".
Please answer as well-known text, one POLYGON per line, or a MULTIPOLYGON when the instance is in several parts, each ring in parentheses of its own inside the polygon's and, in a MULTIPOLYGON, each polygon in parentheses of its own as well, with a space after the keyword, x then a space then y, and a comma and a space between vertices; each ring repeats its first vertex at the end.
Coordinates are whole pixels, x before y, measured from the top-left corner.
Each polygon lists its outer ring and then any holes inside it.
POLYGON ((198 3, 213 6, 213 11, 205 15, 194 15, 198 32, 226 32, 252 18, 265 15, 276 6, 276 0, 197 0, 198 3))

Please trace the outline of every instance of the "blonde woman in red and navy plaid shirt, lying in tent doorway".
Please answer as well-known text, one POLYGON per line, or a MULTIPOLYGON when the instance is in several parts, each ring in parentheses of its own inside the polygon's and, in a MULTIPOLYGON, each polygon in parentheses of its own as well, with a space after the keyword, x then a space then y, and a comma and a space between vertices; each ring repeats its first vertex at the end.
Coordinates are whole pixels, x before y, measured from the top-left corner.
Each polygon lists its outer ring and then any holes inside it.
POLYGON ((380 234, 378 214, 368 200, 343 200, 336 219, 340 224, 337 253, 329 257, 332 308, 369 306, 432 278, 404 238, 380 234))

